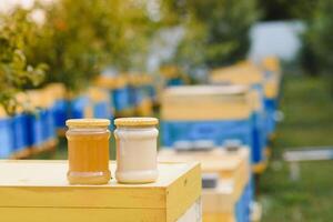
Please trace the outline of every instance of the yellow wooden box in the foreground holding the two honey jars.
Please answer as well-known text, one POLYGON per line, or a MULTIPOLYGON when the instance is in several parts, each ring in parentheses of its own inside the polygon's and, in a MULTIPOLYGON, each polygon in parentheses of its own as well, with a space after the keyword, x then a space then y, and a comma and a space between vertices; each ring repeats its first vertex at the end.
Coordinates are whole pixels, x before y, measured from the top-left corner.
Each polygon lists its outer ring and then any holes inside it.
POLYGON ((0 161, 0 221, 201 221, 199 163, 159 163, 158 181, 139 185, 69 185, 67 170, 67 161, 0 161))

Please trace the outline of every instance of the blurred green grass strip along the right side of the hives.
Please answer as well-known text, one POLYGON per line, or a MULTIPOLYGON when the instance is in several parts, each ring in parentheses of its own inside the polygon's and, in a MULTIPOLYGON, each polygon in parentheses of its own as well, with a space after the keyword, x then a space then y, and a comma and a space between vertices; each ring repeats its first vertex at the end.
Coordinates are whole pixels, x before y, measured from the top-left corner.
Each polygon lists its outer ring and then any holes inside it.
POLYGON ((301 180, 293 182, 281 158, 286 149, 333 144, 333 100, 326 81, 286 77, 281 109, 284 121, 260 181, 263 221, 333 221, 333 161, 301 163, 301 180))

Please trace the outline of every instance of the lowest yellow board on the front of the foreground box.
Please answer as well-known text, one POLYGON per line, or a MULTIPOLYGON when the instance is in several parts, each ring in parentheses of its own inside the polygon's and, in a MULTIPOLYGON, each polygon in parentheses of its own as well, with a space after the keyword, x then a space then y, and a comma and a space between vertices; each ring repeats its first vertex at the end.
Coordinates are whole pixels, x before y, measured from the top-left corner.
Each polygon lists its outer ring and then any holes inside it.
POLYGON ((167 221, 163 209, 0 208, 0 215, 3 222, 167 221))

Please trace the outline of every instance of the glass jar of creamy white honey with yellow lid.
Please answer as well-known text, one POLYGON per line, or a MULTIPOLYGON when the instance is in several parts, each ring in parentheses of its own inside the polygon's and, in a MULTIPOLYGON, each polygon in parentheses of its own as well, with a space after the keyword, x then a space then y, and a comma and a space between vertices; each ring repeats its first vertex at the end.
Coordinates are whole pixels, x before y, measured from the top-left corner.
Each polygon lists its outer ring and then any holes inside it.
POLYGON ((155 118, 115 119, 115 179, 120 183, 150 183, 158 179, 155 118))

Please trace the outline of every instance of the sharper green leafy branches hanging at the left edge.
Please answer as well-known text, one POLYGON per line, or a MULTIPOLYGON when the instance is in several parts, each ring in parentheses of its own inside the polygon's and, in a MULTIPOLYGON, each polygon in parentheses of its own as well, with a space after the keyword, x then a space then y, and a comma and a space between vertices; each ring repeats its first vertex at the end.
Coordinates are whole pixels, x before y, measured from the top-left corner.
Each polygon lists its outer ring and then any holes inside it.
POLYGON ((34 28, 23 10, 0 18, 0 103, 9 114, 18 105, 16 93, 38 85, 44 75, 46 65, 30 65, 24 53, 34 28))

